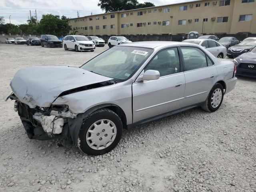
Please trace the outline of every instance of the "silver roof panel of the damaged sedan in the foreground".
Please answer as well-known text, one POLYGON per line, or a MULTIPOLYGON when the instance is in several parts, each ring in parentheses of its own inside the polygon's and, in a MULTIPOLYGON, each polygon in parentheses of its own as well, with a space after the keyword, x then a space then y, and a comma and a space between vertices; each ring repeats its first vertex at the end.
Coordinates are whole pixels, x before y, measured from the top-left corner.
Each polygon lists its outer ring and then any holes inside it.
POLYGON ((144 47, 144 48, 163 48, 168 46, 180 46, 180 45, 192 45, 196 44, 186 43, 186 42, 175 42, 175 41, 142 41, 142 42, 132 42, 127 44, 122 44, 121 46, 132 46, 132 47, 144 47))

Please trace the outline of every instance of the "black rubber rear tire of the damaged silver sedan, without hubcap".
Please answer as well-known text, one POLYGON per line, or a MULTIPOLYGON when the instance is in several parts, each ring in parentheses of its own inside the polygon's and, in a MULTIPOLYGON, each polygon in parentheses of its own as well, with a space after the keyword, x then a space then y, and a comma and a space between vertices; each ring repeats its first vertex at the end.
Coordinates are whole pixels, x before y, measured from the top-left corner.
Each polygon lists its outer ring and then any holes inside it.
POLYGON ((207 111, 207 112, 214 112, 216 110, 218 110, 218 108, 220 108, 221 104, 222 104, 222 101, 223 101, 223 97, 224 97, 224 90, 223 90, 223 86, 222 84, 220 83, 216 83, 212 89, 210 90, 205 102, 204 102, 204 105, 202 105, 202 109, 207 111), (221 92, 222 92, 222 98, 221 98, 221 101, 220 101, 220 104, 217 106, 217 107, 213 107, 211 102, 212 102, 212 96, 213 96, 213 93, 216 91, 216 89, 220 89, 221 92))

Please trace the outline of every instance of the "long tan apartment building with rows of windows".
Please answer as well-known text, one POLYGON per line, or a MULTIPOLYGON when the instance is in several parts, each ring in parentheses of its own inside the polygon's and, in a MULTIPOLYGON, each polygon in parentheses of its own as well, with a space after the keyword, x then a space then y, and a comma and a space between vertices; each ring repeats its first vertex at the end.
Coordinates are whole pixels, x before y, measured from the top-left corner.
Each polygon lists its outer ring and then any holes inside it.
POLYGON ((83 35, 256 33, 254 0, 197 0, 70 19, 83 35))

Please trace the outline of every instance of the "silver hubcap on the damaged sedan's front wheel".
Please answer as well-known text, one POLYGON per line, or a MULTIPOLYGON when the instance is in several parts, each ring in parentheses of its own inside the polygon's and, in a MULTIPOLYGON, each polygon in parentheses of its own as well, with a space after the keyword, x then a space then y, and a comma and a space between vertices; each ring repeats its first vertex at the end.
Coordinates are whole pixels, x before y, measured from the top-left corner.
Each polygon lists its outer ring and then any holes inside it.
POLYGON ((116 138, 116 125, 101 119, 94 122, 86 133, 86 142, 94 150, 102 150, 110 146, 116 138))

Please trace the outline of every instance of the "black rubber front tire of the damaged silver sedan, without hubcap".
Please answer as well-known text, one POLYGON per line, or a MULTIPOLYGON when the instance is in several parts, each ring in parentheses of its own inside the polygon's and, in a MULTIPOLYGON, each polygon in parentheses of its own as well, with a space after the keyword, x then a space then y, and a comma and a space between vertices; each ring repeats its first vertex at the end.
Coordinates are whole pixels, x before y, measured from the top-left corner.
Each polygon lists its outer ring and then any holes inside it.
POLYGON ((87 118, 83 120, 83 124, 81 126, 80 133, 79 133, 78 148, 80 148, 82 152, 89 155, 105 154, 116 147, 116 145, 119 143, 122 137, 122 132, 123 132, 123 124, 120 117, 115 112, 107 108, 99 109, 93 112, 92 114, 90 114, 87 118), (102 150, 92 149, 86 142, 86 134, 90 126, 92 126, 98 120, 102 120, 102 119, 110 120, 116 125, 116 137, 112 142, 112 144, 110 144, 110 146, 102 150))

